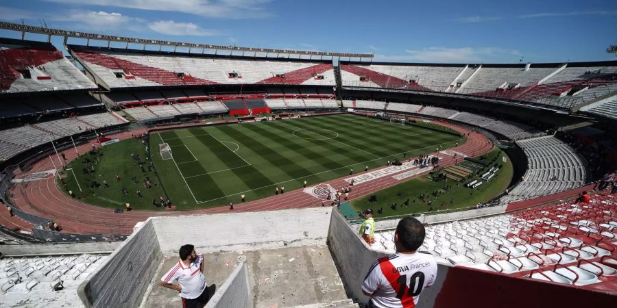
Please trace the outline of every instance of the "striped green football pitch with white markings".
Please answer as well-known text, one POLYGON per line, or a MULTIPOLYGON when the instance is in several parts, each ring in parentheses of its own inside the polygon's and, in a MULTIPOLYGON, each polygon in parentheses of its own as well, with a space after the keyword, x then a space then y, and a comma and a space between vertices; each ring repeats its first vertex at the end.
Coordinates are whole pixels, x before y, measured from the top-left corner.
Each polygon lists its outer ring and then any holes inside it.
POLYGON ((150 149, 165 192, 188 209, 239 203, 241 194, 251 201, 276 185, 295 190, 464 140, 437 125, 336 115, 161 131, 151 133, 150 149), (165 143, 171 157, 159 152, 165 143))

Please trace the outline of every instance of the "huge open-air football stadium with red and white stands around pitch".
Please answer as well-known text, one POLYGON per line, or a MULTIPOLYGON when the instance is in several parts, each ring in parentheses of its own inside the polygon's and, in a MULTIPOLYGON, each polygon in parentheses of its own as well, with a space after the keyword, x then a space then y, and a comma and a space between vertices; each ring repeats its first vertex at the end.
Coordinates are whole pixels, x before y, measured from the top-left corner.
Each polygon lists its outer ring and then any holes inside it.
POLYGON ((617 303, 617 60, 0 29, 0 307, 617 303))

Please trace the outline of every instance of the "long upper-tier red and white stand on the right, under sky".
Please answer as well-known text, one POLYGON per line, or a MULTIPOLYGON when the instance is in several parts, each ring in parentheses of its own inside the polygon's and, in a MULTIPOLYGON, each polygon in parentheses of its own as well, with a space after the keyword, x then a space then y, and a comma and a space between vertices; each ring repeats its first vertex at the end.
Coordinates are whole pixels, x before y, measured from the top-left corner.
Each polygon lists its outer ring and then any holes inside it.
POLYGON ((617 62, 569 64, 358 64, 341 62, 345 87, 466 94, 570 110, 617 91, 617 62))

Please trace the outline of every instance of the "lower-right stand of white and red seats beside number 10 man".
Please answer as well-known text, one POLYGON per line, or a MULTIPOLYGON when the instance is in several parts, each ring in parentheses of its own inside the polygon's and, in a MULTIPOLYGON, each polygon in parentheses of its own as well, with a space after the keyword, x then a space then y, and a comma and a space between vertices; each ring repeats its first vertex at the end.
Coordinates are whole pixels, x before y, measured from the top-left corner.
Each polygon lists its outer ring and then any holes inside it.
MULTIPOLYGON (((611 196, 596 194, 589 205, 557 203, 515 214, 433 224, 426 228, 420 249, 446 264, 603 288, 617 270, 601 261, 614 248, 598 239, 617 237, 616 207, 611 196), (598 215, 599 211, 605 215, 598 215)), ((376 233, 375 240, 372 249, 394 253, 394 231, 376 233)))

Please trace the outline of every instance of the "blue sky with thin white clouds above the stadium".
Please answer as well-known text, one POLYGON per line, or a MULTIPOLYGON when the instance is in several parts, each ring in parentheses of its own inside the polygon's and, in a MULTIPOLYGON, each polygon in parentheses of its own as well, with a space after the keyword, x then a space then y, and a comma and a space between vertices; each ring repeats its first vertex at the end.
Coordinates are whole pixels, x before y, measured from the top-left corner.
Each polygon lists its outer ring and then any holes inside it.
MULTIPOLYGON (((605 52, 617 44, 615 0, 0 0, 0 20, 161 40, 373 53, 385 62, 617 60, 605 52)), ((0 30, 0 36, 19 34, 0 30)), ((61 40, 53 42, 61 48, 61 40)))

